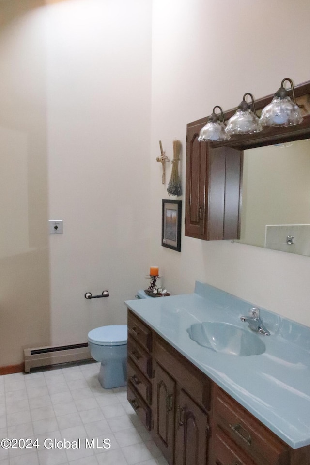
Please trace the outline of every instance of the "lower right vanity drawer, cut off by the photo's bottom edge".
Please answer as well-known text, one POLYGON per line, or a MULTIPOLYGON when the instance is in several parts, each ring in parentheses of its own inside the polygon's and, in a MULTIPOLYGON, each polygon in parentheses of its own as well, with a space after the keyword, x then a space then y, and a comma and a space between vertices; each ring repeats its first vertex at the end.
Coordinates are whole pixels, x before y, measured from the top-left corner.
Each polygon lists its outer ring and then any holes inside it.
POLYGON ((261 465, 255 464, 226 434, 216 429, 213 437, 211 465, 261 465))

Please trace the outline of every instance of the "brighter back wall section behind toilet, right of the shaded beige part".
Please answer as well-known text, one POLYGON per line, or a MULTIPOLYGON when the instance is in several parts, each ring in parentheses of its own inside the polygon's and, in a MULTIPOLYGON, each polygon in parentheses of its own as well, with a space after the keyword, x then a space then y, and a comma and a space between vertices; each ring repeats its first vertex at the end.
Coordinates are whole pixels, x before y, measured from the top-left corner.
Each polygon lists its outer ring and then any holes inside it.
POLYGON ((51 335, 63 343, 126 323, 149 266, 151 2, 70 0, 42 16, 49 216, 64 228, 49 237, 51 335))

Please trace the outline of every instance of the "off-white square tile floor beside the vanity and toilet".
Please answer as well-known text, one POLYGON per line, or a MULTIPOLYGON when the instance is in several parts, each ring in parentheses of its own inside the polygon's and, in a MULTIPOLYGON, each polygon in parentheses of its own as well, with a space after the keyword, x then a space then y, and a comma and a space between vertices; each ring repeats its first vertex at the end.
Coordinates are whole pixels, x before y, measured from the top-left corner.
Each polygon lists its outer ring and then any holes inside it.
POLYGON ((30 446, 38 439, 32 449, 23 441, 12 449, 0 445, 0 465, 167 465, 126 388, 103 389, 98 372, 91 363, 0 376, 0 440, 29 438, 30 446), (93 438, 101 448, 92 447, 93 438), (64 439, 71 447, 61 448, 64 439))

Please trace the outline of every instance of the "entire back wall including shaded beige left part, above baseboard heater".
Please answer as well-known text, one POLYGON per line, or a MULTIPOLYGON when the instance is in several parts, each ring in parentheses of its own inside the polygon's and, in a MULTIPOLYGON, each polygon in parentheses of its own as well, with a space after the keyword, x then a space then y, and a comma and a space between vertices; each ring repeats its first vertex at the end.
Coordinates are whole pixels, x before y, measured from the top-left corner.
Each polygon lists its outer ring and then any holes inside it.
POLYGON ((124 324, 145 284, 151 0, 3 0, 0 21, 1 367, 124 324))

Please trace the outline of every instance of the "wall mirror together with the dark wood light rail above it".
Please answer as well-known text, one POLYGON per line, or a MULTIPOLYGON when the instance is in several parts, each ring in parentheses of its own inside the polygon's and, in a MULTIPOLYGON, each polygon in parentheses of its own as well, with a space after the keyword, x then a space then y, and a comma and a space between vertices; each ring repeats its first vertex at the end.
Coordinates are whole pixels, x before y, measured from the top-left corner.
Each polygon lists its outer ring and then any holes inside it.
MULTIPOLYGON (((212 148, 243 152, 240 239, 236 242, 310 256, 310 81, 295 87, 301 124, 232 136, 212 148)), ((272 95, 255 102, 258 110, 272 95)), ((235 109, 224 112, 229 119, 235 109)))

